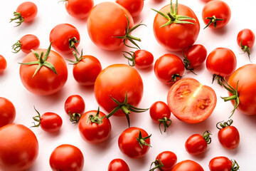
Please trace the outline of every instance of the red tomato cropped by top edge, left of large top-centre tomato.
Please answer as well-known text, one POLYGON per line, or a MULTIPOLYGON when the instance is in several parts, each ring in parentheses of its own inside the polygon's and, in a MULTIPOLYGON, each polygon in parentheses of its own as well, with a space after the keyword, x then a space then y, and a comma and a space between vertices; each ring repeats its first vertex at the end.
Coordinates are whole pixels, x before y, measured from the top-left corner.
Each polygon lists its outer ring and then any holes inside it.
POLYGON ((93 0, 64 0, 65 9, 75 19, 85 19, 92 7, 94 6, 93 0))

